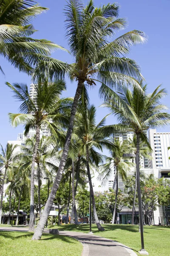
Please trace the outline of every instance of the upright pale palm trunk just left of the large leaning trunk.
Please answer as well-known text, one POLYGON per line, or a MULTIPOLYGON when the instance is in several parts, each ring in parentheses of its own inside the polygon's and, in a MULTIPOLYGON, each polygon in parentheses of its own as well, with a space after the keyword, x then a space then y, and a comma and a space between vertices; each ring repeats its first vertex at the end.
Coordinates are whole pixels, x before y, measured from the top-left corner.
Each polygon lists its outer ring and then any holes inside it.
POLYGON ((32 165, 31 165, 31 189, 30 189, 30 221, 29 221, 29 231, 34 231, 34 175, 35 175, 35 158, 37 156, 38 147, 40 144, 40 126, 37 125, 36 128, 36 138, 35 138, 35 147, 34 153, 32 156, 32 165))

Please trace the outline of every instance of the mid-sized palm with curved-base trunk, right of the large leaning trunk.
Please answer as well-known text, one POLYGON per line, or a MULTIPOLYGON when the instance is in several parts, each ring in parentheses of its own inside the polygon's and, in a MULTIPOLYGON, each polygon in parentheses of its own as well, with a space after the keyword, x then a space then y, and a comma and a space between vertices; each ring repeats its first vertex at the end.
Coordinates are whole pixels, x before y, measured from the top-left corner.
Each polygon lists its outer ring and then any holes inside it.
POLYGON ((91 182, 92 170, 90 170, 90 163, 94 163, 93 167, 98 168, 99 163, 102 162, 101 154, 99 154, 96 149, 102 151, 102 145, 105 145, 108 142, 107 140, 105 140, 105 137, 107 137, 107 135, 99 132, 100 128, 102 128, 105 124, 106 117, 104 117, 101 122, 96 125, 96 108, 94 107, 94 105, 86 107, 87 108, 85 108, 84 110, 82 109, 82 113, 79 114, 79 117, 77 117, 74 127, 74 133, 77 134, 77 136, 80 138, 79 145, 82 148, 82 151, 85 152, 86 168, 91 189, 94 218, 98 229, 103 231, 104 228, 100 225, 96 213, 94 191, 91 182))

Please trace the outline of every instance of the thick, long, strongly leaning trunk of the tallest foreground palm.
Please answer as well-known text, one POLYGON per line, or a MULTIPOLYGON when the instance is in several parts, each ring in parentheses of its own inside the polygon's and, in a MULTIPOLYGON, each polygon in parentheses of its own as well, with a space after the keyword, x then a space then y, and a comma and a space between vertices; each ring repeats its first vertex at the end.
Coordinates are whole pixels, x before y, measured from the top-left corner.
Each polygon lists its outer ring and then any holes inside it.
POLYGON ((38 240, 41 239, 42 233, 44 231, 44 227, 45 227, 45 223, 47 221, 48 215, 50 213, 51 207, 53 205, 53 201, 57 192, 57 189, 59 187, 59 183, 62 179, 62 172, 64 170, 65 167, 65 163, 67 160, 67 156, 68 156, 68 149, 69 149, 69 145, 71 142, 71 135, 73 132, 73 126, 74 126, 74 118, 75 118, 75 114, 76 114, 76 110, 77 110, 77 104, 78 104, 78 99, 80 96, 80 93, 82 91, 82 84, 84 83, 85 79, 79 79, 78 81, 78 86, 77 86, 77 90, 76 90, 76 94, 74 97, 74 102, 71 108, 71 117, 70 117, 70 122, 69 122, 69 126, 68 126, 68 131, 67 131, 67 136, 65 138, 65 144, 64 144, 64 148, 63 148, 63 152, 62 152, 62 157, 59 163, 59 168, 58 168, 58 172, 57 175, 55 177, 54 180, 54 184, 53 187, 51 189, 51 193, 49 195, 48 201, 45 204, 45 208, 41 214, 41 218, 40 221, 37 225, 37 228, 34 232, 34 236, 32 237, 32 239, 34 240, 38 240))

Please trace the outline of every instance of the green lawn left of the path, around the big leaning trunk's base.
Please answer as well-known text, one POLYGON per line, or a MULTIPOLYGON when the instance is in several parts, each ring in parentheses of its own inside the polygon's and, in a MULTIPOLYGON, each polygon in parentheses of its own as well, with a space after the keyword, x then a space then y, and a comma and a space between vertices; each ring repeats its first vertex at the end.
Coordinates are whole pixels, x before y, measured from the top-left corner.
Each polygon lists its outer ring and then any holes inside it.
POLYGON ((82 244, 67 236, 43 234, 32 241, 32 233, 0 231, 0 256, 81 256, 82 244))

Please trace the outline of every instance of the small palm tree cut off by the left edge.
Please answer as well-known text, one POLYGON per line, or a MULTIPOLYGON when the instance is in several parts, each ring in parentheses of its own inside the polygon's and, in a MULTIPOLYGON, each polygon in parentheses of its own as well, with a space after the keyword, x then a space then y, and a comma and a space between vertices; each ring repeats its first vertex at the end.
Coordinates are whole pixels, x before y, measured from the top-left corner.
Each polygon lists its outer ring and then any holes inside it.
POLYGON ((3 207, 3 187, 4 187, 6 175, 8 175, 9 177, 9 175, 12 174, 14 151, 15 151, 15 148, 17 148, 17 145, 7 143, 5 149, 3 148, 2 145, 0 145, 0 147, 1 147, 1 154, 0 154, 1 169, 5 169, 5 172, 3 174, 3 181, 2 181, 1 195, 0 195, 0 224, 1 224, 2 207, 3 207))

